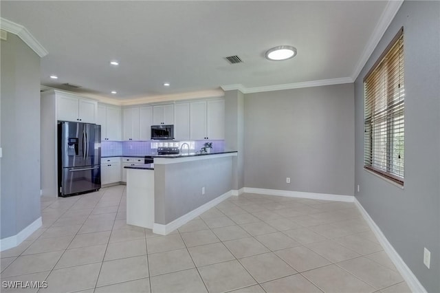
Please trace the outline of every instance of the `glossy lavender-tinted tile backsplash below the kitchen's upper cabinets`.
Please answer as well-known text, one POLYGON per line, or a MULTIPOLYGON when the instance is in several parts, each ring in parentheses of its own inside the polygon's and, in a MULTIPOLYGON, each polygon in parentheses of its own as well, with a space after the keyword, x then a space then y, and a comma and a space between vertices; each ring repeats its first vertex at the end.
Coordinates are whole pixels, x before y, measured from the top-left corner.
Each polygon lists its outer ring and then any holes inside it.
MULTIPOLYGON (((195 151, 200 151, 206 140, 193 140, 195 142, 195 151)), ((102 157, 135 155, 143 157, 155 153, 155 149, 151 149, 151 140, 137 141, 126 140, 124 142, 104 141, 101 142, 102 157)), ((157 142, 157 140, 155 140, 157 142)), ((183 141, 182 141, 183 142, 183 141)), ((212 151, 218 152, 224 150, 224 140, 210 140, 212 142, 212 151)))

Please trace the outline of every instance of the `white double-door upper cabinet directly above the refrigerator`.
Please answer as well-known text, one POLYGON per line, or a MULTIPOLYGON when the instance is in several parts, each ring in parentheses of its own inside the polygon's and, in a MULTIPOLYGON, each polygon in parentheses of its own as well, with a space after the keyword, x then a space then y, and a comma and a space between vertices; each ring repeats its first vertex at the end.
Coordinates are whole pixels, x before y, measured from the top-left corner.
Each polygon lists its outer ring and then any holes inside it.
POLYGON ((55 92, 57 120, 96 123, 98 102, 55 92))

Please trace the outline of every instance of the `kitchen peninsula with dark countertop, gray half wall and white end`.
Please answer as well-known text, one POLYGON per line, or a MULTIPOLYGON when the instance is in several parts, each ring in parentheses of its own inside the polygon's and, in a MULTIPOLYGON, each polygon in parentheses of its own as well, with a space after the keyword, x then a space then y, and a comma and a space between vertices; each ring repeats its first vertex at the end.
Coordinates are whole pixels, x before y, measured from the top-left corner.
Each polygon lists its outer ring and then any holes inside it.
POLYGON ((230 197, 236 151, 156 155, 126 166, 126 222, 167 235, 230 197))

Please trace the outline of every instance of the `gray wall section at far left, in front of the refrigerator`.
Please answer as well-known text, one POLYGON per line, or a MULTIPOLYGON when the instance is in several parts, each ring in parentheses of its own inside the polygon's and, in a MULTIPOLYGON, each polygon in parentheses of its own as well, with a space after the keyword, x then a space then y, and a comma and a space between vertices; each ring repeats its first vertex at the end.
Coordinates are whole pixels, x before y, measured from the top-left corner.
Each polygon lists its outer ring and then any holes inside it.
POLYGON ((1 41, 1 239, 40 213, 40 57, 19 37, 1 41))

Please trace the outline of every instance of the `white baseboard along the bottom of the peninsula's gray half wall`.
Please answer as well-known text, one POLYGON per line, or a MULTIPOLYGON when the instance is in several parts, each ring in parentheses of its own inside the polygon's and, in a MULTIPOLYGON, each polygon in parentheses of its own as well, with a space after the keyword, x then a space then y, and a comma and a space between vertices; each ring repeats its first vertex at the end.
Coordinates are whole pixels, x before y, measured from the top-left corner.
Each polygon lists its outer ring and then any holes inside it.
POLYGON ((168 233, 173 232, 177 228, 188 223, 188 221, 205 213, 206 210, 209 210, 210 208, 216 206, 217 204, 220 204, 221 202, 223 202, 223 200, 227 199, 231 195, 232 195, 232 191, 228 191, 227 193, 224 193, 223 195, 220 195, 219 197, 212 199, 210 202, 207 202, 206 204, 199 206, 195 210, 191 210, 189 213, 175 219, 174 221, 172 221, 166 225, 154 223, 153 224, 153 233, 156 233, 159 235, 167 235, 168 233))

